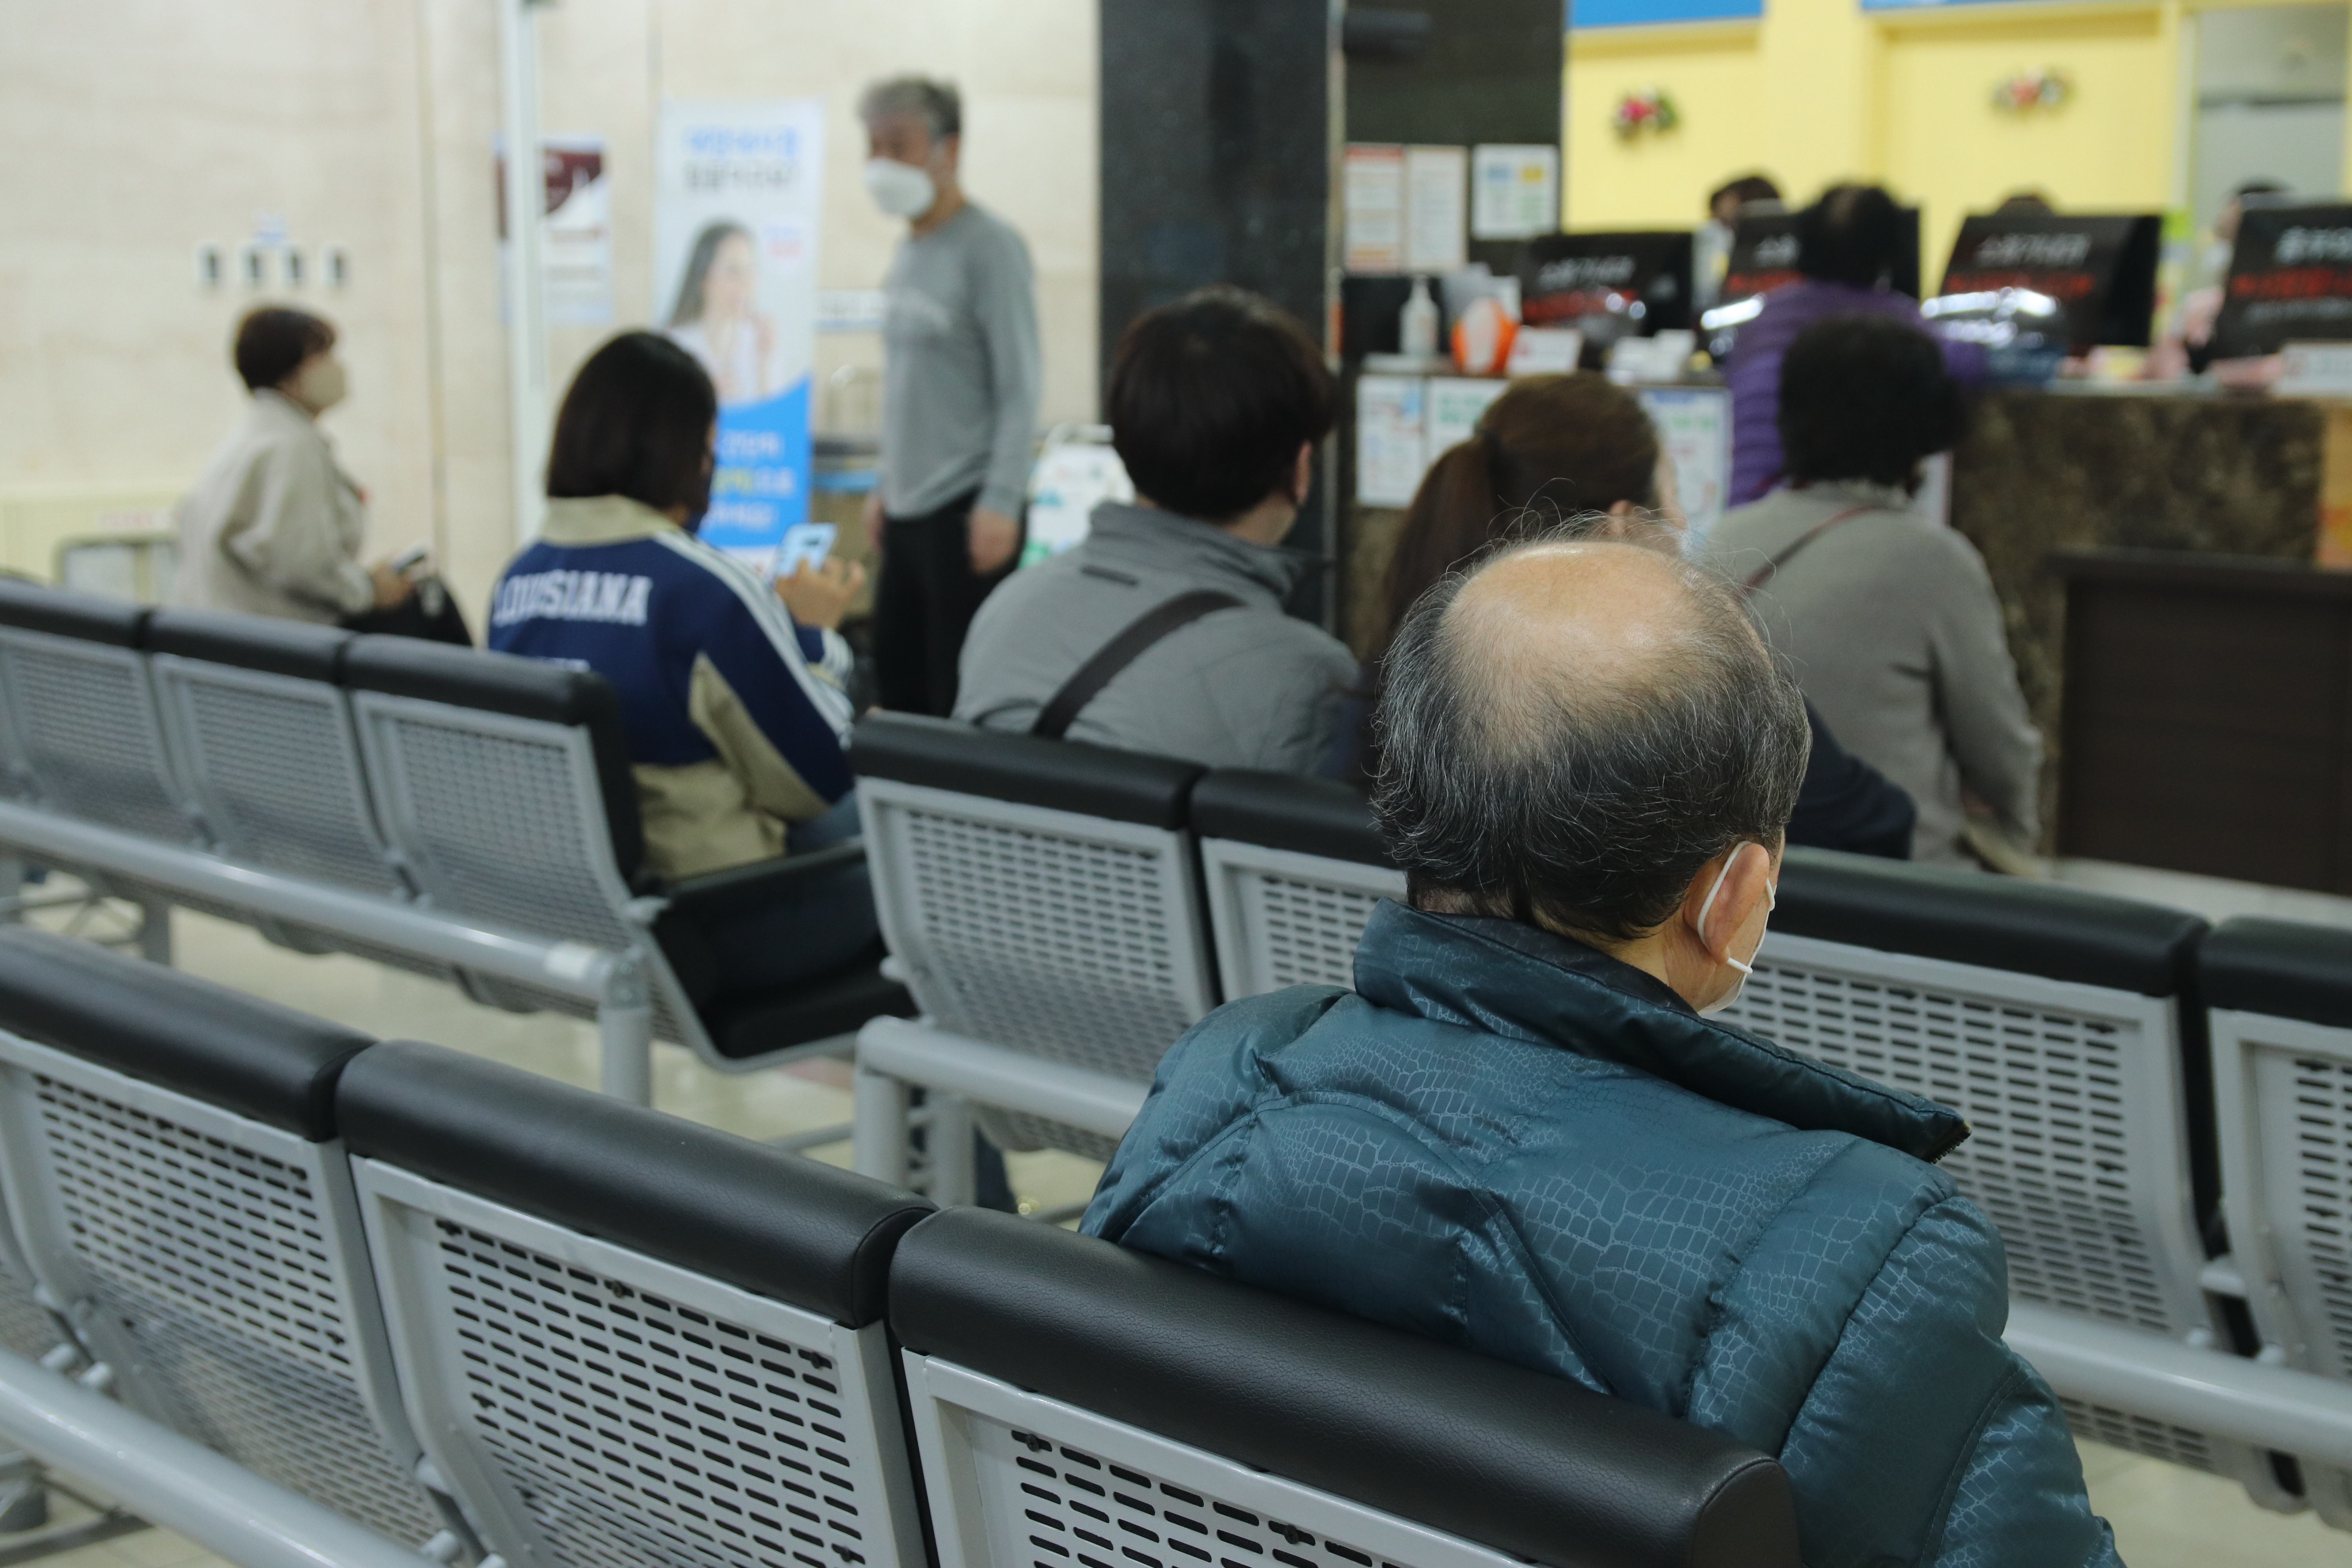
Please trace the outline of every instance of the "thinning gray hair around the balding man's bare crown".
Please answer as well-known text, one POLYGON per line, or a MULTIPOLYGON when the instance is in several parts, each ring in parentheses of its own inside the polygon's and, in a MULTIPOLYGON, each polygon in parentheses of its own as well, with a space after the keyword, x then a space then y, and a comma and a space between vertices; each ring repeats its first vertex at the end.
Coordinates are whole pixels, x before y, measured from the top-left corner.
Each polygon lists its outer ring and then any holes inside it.
MULTIPOLYGON (((1573 538, 1590 529, 1564 529, 1573 538)), ((1439 578, 1381 670, 1374 813, 1411 896, 1630 940, 1672 917, 1733 844, 1773 846, 1811 726, 1726 581, 1672 559, 1689 604, 1649 670, 1578 682, 1468 658, 1454 604, 1522 541, 1439 578)))

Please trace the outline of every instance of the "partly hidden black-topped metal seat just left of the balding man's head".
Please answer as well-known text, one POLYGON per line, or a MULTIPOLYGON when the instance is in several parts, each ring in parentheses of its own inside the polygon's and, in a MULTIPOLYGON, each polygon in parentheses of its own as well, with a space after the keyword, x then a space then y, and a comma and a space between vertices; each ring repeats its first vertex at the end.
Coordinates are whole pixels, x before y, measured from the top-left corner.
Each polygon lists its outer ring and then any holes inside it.
POLYGON ((1371 806, 1329 778, 1216 769, 1192 785, 1225 999, 1284 985, 1355 985, 1371 907, 1404 898, 1371 806))

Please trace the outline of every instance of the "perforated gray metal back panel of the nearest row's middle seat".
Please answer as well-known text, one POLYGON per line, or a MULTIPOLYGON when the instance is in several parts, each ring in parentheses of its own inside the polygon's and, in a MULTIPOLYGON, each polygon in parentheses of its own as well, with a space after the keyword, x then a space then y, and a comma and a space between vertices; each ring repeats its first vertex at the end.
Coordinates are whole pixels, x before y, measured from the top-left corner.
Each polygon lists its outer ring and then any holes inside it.
POLYGON ((358 1180, 428 1448, 489 1500, 510 1561, 922 1563, 880 1324, 840 1328, 383 1161, 358 1180))

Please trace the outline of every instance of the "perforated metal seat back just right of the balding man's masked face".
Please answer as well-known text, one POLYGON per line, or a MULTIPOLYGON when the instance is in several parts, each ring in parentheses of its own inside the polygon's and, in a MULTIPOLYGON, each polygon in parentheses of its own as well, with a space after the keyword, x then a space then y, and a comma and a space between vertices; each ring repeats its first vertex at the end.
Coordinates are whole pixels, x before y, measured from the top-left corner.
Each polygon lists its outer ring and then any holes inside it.
MULTIPOLYGON (((1724 1018, 1966 1117, 1943 1168, 1999 1227, 2018 1300, 2169 1340, 2213 1328, 2171 1001, 1771 933, 1724 1018)), ((2084 1436, 2241 1474, 2204 1434, 2065 1406, 2084 1436)))

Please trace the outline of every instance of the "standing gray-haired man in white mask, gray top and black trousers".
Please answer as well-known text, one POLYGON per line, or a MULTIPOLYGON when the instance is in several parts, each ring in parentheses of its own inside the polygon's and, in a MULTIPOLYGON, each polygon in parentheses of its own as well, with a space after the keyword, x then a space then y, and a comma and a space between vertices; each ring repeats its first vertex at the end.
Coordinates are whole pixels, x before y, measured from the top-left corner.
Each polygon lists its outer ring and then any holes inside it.
POLYGON ((1028 244, 957 183, 955 87, 866 89, 866 190, 908 219, 882 289, 882 475, 866 531, 882 557, 873 654, 882 708, 946 717, 964 628, 1021 550, 1037 437, 1028 244))

